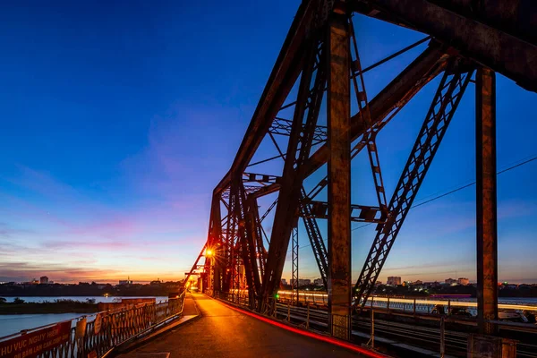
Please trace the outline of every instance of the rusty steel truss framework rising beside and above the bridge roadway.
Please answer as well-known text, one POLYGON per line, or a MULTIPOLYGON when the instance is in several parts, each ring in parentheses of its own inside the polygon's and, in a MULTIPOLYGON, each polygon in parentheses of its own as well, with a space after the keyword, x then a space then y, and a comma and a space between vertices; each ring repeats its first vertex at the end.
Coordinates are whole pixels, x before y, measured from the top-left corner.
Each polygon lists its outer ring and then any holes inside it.
POLYGON ((328 332, 350 339, 353 310, 360 311, 371 295, 456 108, 473 82, 478 327, 482 334, 494 335, 495 132, 496 102, 501 100, 496 97, 496 72, 525 90, 537 90, 533 0, 303 0, 233 165, 214 189, 207 243, 187 276, 199 270, 204 292, 234 303, 245 293, 252 311, 273 315, 290 245, 294 285, 298 282, 297 224, 302 220, 328 291, 328 332), (424 38, 364 68, 360 52, 367 49, 357 46, 354 13, 420 31, 424 38), (376 96, 368 96, 365 72, 388 66, 391 58, 425 42, 421 55, 376 96), (396 190, 386 192, 377 134, 437 77, 438 90, 423 111, 421 130, 396 190), (321 108, 326 108, 326 125, 319 119, 321 108), (258 159, 262 142, 274 146, 276 155, 258 159), (351 202, 351 161, 362 151, 367 151, 367 170, 375 183, 374 206, 351 202), (322 179, 306 185, 314 173, 322 179), (268 197, 276 199, 260 206, 268 197), (323 219, 328 220, 326 238, 319 226, 323 219), (376 225, 356 282, 351 281, 352 222, 376 225))

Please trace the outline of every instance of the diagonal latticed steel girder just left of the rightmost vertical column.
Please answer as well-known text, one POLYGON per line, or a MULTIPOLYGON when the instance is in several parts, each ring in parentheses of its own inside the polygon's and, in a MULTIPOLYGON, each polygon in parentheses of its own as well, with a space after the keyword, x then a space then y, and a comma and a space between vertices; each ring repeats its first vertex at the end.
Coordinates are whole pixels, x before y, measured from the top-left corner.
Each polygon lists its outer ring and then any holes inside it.
POLYGON ((389 202, 386 223, 379 228, 356 282, 354 293, 356 305, 360 304, 363 307, 371 294, 406 214, 412 207, 423 178, 470 81, 472 72, 461 72, 455 63, 453 65, 454 68, 446 71, 440 81, 439 89, 389 202))

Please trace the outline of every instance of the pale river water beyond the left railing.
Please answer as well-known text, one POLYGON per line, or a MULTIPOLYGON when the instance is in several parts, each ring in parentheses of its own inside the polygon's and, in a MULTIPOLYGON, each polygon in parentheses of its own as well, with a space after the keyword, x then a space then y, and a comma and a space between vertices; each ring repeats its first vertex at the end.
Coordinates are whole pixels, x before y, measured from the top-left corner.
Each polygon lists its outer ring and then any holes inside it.
MULTIPOLYGON (((85 302, 87 299, 94 299, 96 303, 113 303, 116 299, 122 298, 152 298, 152 297, 20 297, 27 303, 54 302, 55 300, 75 300, 85 302)), ((155 297, 157 302, 166 301, 167 297, 155 297)), ((6 301, 13 302, 15 297, 5 297, 6 301)), ((20 332, 22 329, 46 326, 63 320, 72 320, 83 316, 83 313, 47 313, 47 314, 0 314, 0 337, 8 336, 20 332)))

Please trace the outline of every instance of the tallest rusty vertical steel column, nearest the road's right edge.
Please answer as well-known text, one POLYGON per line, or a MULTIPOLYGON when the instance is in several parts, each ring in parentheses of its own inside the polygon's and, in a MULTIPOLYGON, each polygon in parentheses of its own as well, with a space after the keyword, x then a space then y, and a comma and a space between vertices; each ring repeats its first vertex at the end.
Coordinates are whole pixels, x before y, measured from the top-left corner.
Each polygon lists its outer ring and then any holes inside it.
POLYGON ((351 56, 347 21, 345 12, 335 9, 328 28, 328 313, 331 335, 345 340, 351 334, 351 56))

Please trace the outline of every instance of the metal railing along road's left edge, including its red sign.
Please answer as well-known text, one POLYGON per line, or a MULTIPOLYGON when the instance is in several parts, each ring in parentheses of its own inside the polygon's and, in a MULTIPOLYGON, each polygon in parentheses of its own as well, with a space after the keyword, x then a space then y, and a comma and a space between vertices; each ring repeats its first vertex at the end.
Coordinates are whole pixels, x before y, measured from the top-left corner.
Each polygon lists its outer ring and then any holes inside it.
POLYGON ((183 291, 159 303, 139 303, 0 337, 3 358, 103 357, 115 346, 167 324, 183 313, 183 291))

